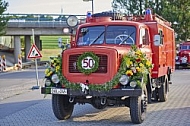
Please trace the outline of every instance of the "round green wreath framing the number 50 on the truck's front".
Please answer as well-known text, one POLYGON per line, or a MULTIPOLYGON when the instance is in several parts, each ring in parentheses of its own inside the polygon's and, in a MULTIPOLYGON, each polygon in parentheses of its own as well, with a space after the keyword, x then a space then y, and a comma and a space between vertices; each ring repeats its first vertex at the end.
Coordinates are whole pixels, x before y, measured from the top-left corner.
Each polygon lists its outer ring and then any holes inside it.
POLYGON ((78 57, 77 60, 77 68, 81 73, 84 73, 86 75, 91 74, 92 72, 95 72, 99 67, 99 57, 96 56, 93 52, 85 52, 82 55, 80 55, 78 57), (82 63, 84 61, 84 59, 90 58, 91 62, 85 62, 85 65, 90 65, 91 63, 91 67, 90 69, 84 69, 82 66, 82 63))

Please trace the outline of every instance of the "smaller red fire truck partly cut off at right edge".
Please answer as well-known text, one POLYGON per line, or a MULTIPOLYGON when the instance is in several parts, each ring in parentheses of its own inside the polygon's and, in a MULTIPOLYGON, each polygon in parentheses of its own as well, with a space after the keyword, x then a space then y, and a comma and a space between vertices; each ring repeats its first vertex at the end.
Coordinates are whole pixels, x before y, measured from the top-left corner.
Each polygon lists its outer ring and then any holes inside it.
POLYGON ((176 67, 187 68, 190 65, 190 41, 185 41, 179 44, 176 56, 176 67))

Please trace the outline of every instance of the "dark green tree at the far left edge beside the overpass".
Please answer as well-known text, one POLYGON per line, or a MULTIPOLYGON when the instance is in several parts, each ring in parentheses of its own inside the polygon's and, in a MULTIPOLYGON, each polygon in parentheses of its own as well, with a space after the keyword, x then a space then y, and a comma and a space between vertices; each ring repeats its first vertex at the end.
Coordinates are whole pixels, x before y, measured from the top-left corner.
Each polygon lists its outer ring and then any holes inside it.
POLYGON ((6 11, 8 6, 8 2, 0 0, 0 36, 6 33, 5 28, 7 26, 8 18, 3 16, 2 14, 6 11))

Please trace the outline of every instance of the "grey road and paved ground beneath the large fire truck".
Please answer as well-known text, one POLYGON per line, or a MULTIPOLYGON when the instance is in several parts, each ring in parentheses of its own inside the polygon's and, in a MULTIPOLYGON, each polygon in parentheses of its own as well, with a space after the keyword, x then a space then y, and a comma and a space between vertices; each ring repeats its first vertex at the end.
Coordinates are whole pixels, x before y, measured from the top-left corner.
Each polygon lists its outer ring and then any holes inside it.
MULTIPOLYGON (((42 83, 44 69, 39 70, 42 83)), ((66 121, 55 118, 51 108, 51 95, 44 98, 40 90, 31 90, 36 82, 34 70, 0 74, 4 84, 29 85, 22 93, 0 100, 0 126, 130 126, 129 108, 113 107, 97 110, 91 105, 75 105, 72 117, 66 121), (6 78, 6 79, 5 79, 6 78), (6 81, 7 80, 7 81, 6 81), (12 81, 11 81, 12 80, 12 81), (28 81, 28 82, 27 82, 28 81), (27 83, 26 83, 27 82, 27 83)), ((148 105, 146 120, 138 126, 190 126, 190 70, 176 70, 170 85, 167 102, 148 105)), ((0 96, 3 89, 1 87, 0 96)))

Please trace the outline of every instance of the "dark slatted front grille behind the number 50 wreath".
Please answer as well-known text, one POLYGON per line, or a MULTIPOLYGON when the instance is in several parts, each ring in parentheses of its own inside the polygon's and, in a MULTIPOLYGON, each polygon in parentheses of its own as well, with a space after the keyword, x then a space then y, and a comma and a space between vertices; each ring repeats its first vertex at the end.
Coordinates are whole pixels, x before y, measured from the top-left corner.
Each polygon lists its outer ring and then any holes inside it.
MULTIPOLYGON (((108 57, 107 55, 102 54, 96 54, 99 57, 99 67, 94 73, 107 73, 107 61, 108 57)), ((80 71, 77 69, 77 59, 80 56, 80 54, 76 55, 70 55, 69 56, 69 73, 80 73, 80 71)))

